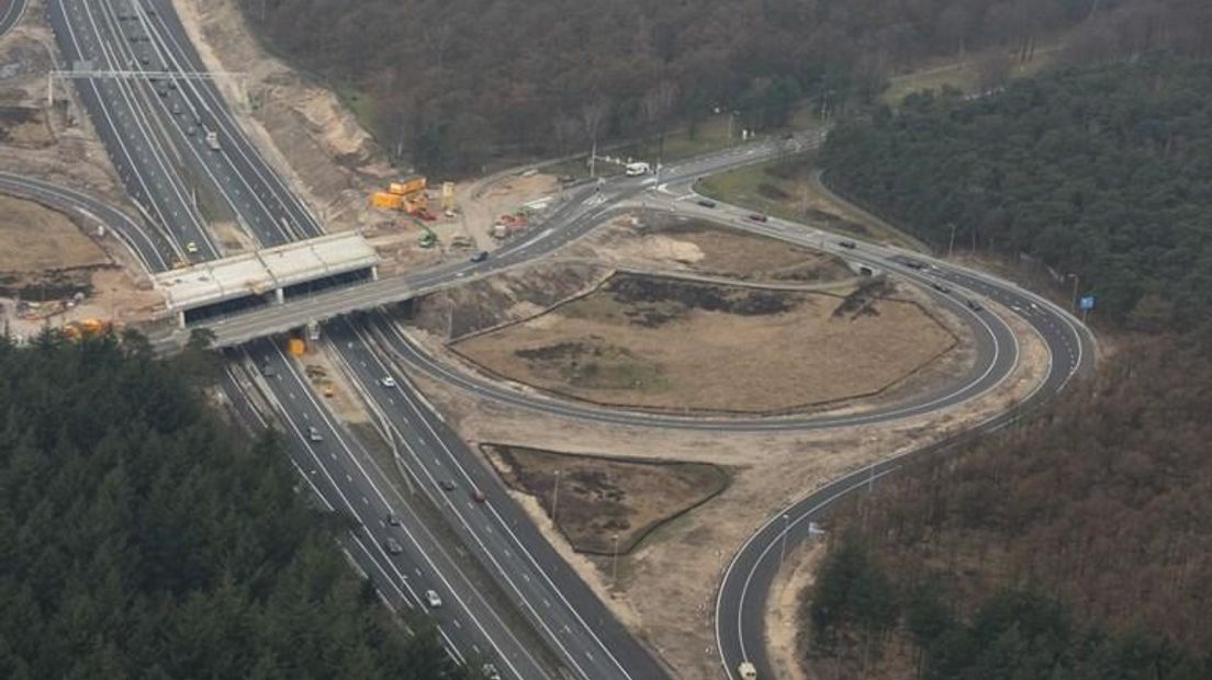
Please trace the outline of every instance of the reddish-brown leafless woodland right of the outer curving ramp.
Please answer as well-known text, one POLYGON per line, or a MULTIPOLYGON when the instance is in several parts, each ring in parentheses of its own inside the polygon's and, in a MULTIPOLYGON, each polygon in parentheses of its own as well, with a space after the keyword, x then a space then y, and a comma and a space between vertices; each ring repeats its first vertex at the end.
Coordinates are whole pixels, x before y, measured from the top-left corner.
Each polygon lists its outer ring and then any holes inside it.
POLYGON ((1127 342, 1100 373, 837 513, 801 615, 812 663, 1212 678, 1207 329, 1127 342))

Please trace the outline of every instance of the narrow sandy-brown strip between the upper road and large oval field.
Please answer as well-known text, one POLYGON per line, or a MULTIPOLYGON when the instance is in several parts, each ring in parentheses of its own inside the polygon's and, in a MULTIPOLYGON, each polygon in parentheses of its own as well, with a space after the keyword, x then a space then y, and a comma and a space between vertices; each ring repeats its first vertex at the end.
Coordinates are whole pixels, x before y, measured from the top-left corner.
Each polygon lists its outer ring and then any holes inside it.
POLYGON ((846 263, 833 255, 662 213, 618 219, 573 244, 570 252, 617 267, 751 282, 822 283, 854 276, 846 263))

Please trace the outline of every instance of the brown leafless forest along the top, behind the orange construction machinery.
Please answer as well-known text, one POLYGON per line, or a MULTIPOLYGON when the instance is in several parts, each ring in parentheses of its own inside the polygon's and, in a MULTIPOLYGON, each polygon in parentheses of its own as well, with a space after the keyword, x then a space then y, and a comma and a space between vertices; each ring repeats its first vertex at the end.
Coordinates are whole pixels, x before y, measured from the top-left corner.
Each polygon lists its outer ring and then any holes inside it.
MULTIPOLYGON (((1126 0, 1099 0, 1109 13, 1126 0)), ((987 46, 1029 52, 1091 0, 240 0, 268 44, 368 93, 383 145, 425 171, 588 150, 737 111, 870 102, 888 74, 987 46)))

